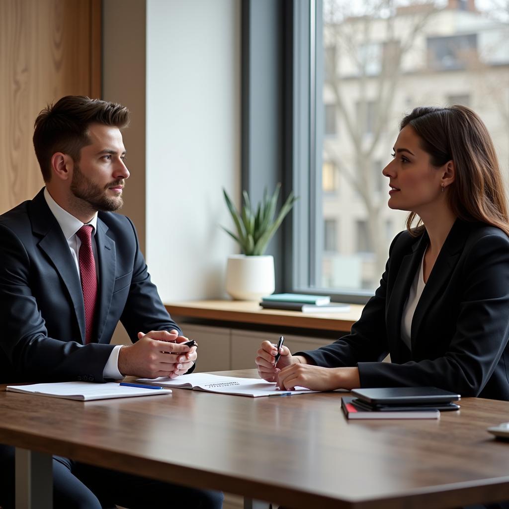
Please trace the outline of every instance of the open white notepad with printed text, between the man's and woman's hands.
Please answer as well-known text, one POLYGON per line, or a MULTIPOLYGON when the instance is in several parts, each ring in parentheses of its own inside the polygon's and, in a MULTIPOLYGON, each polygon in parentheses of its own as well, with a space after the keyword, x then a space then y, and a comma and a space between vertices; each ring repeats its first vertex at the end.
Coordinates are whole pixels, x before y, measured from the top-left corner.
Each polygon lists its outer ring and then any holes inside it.
POLYGON ((223 377, 219 375, 208 375, 207 373, 191 373, 190 375, 181 375, 173 379, 168 377, 154 379, 138 378, 137 381, 145 384, 159 385, 160 387, 205 390, 208 392, 217 392, 219 394, 250 396, 251 398, 319 392, 304 387, 295 387, 295 390, 281 390, 275 383, 267 382, 260 378, 223 377))

